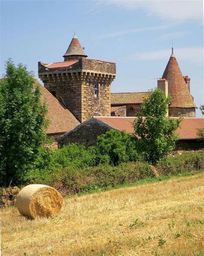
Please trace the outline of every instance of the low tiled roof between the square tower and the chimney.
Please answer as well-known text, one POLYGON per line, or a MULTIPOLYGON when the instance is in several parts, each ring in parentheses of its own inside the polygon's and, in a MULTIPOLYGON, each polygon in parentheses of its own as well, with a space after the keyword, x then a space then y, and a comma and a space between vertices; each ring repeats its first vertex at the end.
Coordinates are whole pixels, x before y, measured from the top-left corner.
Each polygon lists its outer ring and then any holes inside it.
POLYGON ((151 92, 142 93, 111 93, 111 105, 139 104, 151 92))

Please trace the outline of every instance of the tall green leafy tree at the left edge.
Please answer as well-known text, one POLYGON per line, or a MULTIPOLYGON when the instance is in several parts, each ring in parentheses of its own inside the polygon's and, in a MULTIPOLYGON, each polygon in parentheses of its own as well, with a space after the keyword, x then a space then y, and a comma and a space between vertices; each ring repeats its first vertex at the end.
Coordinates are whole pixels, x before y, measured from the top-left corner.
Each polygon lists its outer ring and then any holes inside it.
POLYGON ((20 185, 28 179, 38 148, 46 138, 46 105, 26 66, 9 59, 0 81, 0 179, 20 185))

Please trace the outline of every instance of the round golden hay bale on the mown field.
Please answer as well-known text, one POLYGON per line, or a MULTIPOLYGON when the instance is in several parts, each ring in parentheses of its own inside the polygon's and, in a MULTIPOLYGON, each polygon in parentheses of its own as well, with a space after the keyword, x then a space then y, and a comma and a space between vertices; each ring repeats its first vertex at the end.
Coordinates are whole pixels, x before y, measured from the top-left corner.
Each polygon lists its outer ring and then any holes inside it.
POLYGON ((20 214, 31 218, 57 214, 62 203, 62 195, 56 189, 41 184, 25 186, 16 199, 20 214))

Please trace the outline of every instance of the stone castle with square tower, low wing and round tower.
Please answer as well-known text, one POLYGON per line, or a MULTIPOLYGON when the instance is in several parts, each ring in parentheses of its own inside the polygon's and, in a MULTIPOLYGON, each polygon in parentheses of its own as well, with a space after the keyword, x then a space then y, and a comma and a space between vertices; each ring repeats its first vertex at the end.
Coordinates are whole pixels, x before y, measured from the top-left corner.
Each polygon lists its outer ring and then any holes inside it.
MULTIPOLYGON (((150 93, 111 93, 116 64, 87 58, 75 35, 63 57, 63 62, 38 62, 39 78, 79 122, 92 116, 135 116, 150 93)), ((158 88, 172 96, 169 116, 195 117, 197 107, 190 94, 190 78, 182 76, 173 48, 158 88)))

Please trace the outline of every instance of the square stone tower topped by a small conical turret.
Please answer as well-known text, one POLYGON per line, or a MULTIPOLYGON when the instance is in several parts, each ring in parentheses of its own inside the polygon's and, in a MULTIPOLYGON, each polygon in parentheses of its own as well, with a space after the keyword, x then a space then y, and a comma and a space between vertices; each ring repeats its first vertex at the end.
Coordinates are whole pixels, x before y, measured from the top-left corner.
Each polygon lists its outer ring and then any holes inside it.
POLYGON ((38 62, 45 88, 80 122, 93 115, 110 116, 116 64, 87 58, 75 35, 63 57, 63 62, 38 62))

